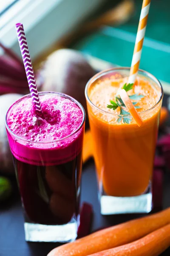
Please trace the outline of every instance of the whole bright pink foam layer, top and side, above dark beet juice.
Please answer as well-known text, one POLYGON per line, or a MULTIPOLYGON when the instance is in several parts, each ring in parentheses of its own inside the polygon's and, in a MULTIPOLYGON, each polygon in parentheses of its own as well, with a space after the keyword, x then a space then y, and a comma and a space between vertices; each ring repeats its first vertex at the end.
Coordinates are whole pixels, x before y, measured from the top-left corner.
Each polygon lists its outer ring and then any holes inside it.
POLYGON ((6 123, 12 154, 17 160, 34 165, 73 160, 82 149, 83 110, 57 93, 40 93, 40 101, 41 117, 28 96, 9 108, 6 123))

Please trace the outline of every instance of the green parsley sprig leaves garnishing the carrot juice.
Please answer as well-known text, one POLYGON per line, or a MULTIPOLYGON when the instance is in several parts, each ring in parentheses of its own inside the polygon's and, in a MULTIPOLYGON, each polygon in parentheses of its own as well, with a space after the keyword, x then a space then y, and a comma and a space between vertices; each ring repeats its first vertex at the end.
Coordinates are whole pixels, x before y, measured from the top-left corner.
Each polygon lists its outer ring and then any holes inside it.
MULTIPOLYGON (((133 84, 124 84, 123 88, 122 89, 125 89, 125 91, 129 91, 133 88, 133 84)), ((139 93, 136 93, 136 94, 133 94, 133 95, 130 95, 129 98, 132 99, 132 100, 140 100, 144 97, 144 95, 142 94, 139 94, 139 93)), ((130 115, 129 112, 125 111, 122 107, 126 107, 125 104, 123 103, 121 97, 118 95, 116 96, 116 102, 114 102, 113 100, 110 101, 111 102, 111 105, 108 105, 107 108, 110 108, 110 109, 113 109, 113 110, 116 110, 116 108, 120 107, 120 115, 119 118, 117 119, 117 122, 121 122, 122 121, 122 118, 123 118, 123 122, 124 123, 127 123, 127 124, 130 124, 130 122, 132 121, 132 119, 130 117, 122 117, 122 115, 130 115)), ((136 106, 138 102, 132 102, 132 104, 134 105, 135 108, 140 108, 139 106, 136 106)))

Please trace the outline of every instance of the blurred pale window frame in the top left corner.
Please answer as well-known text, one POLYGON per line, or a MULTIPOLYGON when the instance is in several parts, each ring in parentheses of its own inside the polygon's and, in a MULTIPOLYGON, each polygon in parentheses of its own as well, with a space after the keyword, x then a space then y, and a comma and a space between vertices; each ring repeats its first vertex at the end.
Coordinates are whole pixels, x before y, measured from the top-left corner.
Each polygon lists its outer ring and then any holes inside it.
POLYGON ((20 55, 15 23, 21 22, 31 58, 37 58, 68 32, 74 31, 105 1, 0 0, 0 42, 20 55))

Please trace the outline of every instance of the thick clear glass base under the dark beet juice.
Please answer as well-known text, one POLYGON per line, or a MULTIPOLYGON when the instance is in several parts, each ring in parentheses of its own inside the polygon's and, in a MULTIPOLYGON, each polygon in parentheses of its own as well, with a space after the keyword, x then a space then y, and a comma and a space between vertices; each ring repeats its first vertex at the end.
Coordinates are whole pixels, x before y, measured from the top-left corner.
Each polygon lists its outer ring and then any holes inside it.
POLYGON ((77 221, 64 225, 24 223, 26 241, 71 242, 77 238, 77 221))

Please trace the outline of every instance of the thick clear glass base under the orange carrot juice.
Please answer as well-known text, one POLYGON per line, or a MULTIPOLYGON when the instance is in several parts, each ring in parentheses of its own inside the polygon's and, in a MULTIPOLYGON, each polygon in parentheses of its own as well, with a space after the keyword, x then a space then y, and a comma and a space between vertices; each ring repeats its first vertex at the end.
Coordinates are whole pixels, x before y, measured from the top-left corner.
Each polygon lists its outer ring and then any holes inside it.
POLYGON ((147 213, 152 210, 152 193, 131 197, 102 195, 100 205, 102 215, 147 213))

